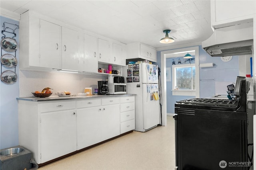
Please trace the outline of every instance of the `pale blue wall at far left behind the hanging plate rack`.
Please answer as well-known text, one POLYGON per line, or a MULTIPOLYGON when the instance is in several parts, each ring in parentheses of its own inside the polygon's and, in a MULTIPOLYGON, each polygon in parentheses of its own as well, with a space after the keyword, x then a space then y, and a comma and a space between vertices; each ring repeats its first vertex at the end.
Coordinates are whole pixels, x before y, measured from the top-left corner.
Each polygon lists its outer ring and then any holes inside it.
MULTIPOLYGON (((2 27, 4 22, 19 25, 18 21, 0 16, 1 31, 4 30, 4 27, 2 27)), ((6 29, 6 31, 10 32, 11 30, 6 29)), ((16 37, 14 39, 19 43, 18 29, 15 30, 15 33, 16 37)), ((4 34, 6 37, 14 36, 12 33, 4 32, 4 34)), ((1 33, 2 36, 4 35, 1 33)), ((17 60, 19 59, 19 50, 16 51, 16 55, 15 52, 10 53, 2 50, 1 55, 4 54, 11 54, 16 56, 17 60)), ((4 72, 5 70, 14 71, 18 75, 19 63, 16 69, 2 66, 1 71, 4 72)), ((0 94, 0 149, 4 149, 18 145, 18 102, 16 98, 19 96, 19 78, 14 84, 4 84, 1 81, 0 94)))

